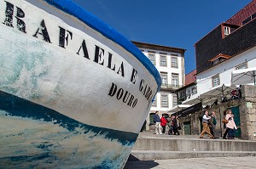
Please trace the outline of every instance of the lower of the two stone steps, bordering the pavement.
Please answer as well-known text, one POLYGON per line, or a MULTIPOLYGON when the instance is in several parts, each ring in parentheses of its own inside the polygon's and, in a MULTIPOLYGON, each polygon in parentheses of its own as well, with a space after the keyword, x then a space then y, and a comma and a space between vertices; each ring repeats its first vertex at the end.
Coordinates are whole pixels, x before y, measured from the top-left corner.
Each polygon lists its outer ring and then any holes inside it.
POLYGON ((256 156, 256 151, 162 151, 132 150, 128 161, 154 161, 166 159, 256 156))

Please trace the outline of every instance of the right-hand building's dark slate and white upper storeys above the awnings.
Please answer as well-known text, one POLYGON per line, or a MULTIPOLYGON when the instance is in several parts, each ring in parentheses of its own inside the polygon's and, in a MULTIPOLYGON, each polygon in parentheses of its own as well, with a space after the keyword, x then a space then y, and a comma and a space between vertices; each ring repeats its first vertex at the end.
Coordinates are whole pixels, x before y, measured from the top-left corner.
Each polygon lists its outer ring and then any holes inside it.
MULTIPOLYGON (((213 89, 223 85, 232 86, 234 70, 256 68, 255 18, 256 6, 253 1, 195 43, 198 92, 195 98, 204 99, 213 89)), ((189 102, 185 100, 184 103, 189 102)))

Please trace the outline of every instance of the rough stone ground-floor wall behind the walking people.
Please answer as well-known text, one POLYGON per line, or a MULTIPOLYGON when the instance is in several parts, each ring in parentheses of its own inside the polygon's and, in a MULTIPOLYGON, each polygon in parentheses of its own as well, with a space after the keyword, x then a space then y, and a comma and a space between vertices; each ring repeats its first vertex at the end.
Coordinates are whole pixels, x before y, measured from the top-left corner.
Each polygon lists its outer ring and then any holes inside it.
MULTIPOLYGON (((224 118, 224 110, 231 107, 239 106, 240 122, 241 122, 241 139, 256 140, 256 86, 241 86, 241 99, 230 100, 229 102, 212 105, 207 109, 210 113, 215 111, 217 115, 216 130, 218 137, 221 138, 224 134, 224 125, 221 120, 224 118)), ((183 123, 190 121, 191 134, 199 135, 201 132, 201 117, 205 110, 197 111, 189 114, 186 117, 181 117, 183 134, 183 123)))

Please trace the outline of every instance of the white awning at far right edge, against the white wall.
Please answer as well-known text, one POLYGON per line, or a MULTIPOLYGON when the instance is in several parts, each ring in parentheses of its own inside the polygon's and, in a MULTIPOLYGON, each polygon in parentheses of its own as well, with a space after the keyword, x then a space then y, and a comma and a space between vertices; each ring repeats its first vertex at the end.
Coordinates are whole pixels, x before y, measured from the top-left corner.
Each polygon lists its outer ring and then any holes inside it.
POLYGON ((233 70, 231 76, 231 84, 241 85, 241 84, 256 84, 256 67, 233 70))

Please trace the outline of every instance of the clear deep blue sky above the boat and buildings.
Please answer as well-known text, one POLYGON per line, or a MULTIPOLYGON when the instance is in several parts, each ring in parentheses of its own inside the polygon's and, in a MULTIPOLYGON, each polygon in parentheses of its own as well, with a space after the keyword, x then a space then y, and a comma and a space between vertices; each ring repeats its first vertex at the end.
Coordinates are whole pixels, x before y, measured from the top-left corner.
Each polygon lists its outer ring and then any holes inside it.
POLYGON ((130 41, 184 48, 186 74, 195 42, 252 0, 73 0, 130 41))

